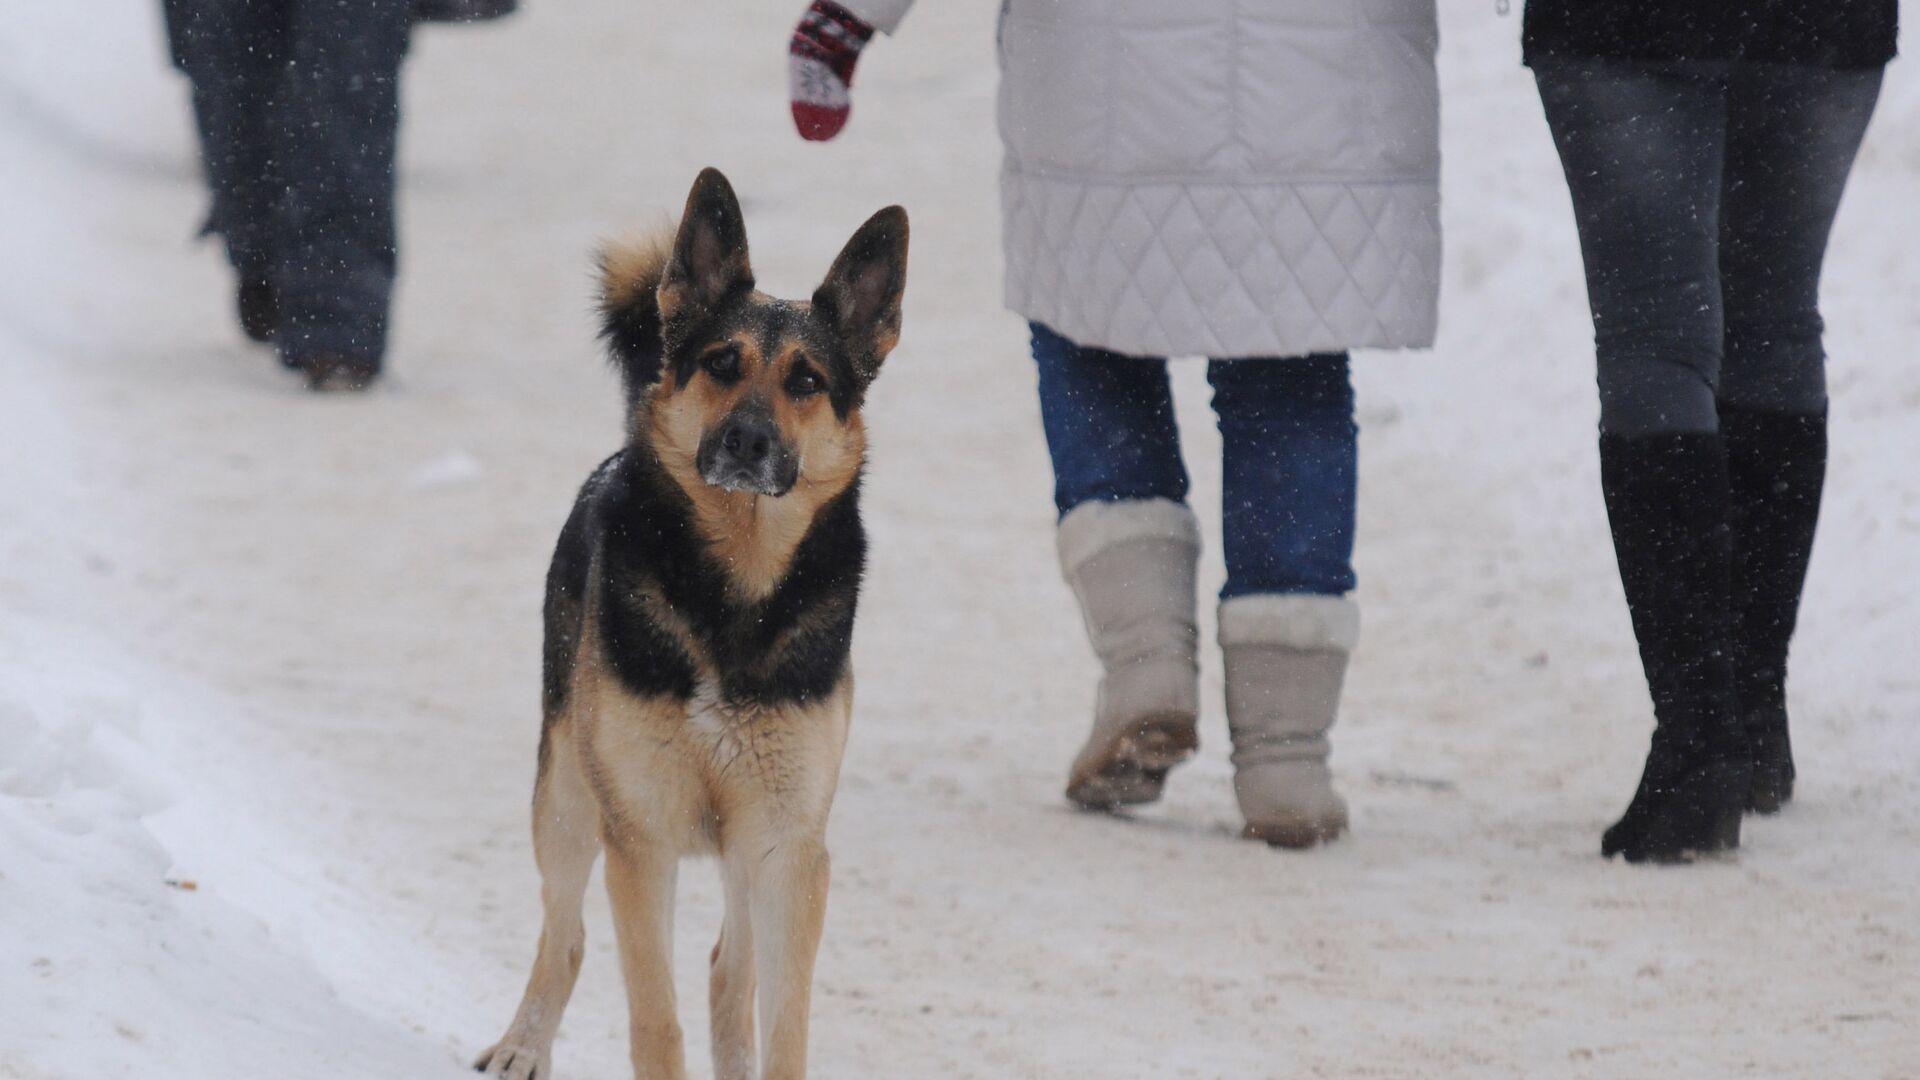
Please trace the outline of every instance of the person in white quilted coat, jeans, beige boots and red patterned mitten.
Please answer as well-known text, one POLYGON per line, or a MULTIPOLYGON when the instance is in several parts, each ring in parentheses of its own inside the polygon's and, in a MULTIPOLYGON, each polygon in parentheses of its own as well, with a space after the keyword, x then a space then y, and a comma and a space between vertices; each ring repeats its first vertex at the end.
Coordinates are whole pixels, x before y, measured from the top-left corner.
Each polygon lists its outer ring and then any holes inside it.
MULTIPOLYGON (((912 0, 814 2, 806 138, 912 0)), ((1006 304, 1031 323, 1060 559, 1104 678, 1068 798, 1160 798, 1198 746, 1198 527, 1165 357, 1206 356, 1225 442, 1227 669, 1246 834, 1346 830, 1327 769, 1354 590, 1348 350, 1432 344, 1432 0, 1006 0, 1006 304)))

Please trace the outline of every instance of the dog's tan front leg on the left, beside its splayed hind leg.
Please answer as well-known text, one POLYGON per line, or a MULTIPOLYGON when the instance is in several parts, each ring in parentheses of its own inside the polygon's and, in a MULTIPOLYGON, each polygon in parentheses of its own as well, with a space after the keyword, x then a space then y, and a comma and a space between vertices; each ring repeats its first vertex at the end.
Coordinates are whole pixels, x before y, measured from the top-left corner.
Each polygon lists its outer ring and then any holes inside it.
POLYGON ((607 836, 607 894, 620 940, 636 1080, 685 1080, 674 1007, 674 882, 680 853, 647 836, 607 836))

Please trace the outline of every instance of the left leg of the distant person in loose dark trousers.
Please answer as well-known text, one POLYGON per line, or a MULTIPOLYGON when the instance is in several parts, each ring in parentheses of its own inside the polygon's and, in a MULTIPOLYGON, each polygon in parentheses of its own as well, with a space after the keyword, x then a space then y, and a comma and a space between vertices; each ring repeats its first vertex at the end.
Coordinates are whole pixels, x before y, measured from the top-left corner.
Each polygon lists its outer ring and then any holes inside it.
POLYGON ((200 160, 211 192, 205 231, 225 240, 240 279, 240 327, 253 340, 273 340, 280 196, 273 111, 286 65, 286 12, 250 0, 169 0, 167 31, 175 61, 194 85, 200 160))

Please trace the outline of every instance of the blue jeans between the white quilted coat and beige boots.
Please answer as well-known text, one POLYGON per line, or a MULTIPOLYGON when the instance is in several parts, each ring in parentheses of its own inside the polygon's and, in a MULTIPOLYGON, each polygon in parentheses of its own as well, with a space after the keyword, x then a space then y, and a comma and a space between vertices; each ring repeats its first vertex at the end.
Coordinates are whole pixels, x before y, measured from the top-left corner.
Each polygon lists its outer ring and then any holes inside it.
MULTIPOLYGON (((1187 502, 1167 361, 1083 348, 1033 323, 1054 505, 1187 502)), ((1213 359, 1223 446, 1221 600, 1354 590, 1357 434, 1346 354, 1213 359)))

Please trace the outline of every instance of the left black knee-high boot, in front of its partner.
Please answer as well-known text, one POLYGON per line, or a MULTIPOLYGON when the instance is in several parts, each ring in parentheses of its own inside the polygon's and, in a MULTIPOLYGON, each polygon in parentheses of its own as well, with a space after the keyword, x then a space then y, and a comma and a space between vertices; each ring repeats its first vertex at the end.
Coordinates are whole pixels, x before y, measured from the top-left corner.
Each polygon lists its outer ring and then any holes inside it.
POLYGON ((1599 475, 1655 721, 1599 849, 1682 863, 1738 847, 1753 763, 1734 713, 1726 452, 1715 432, 1601 434, 1599 475))

